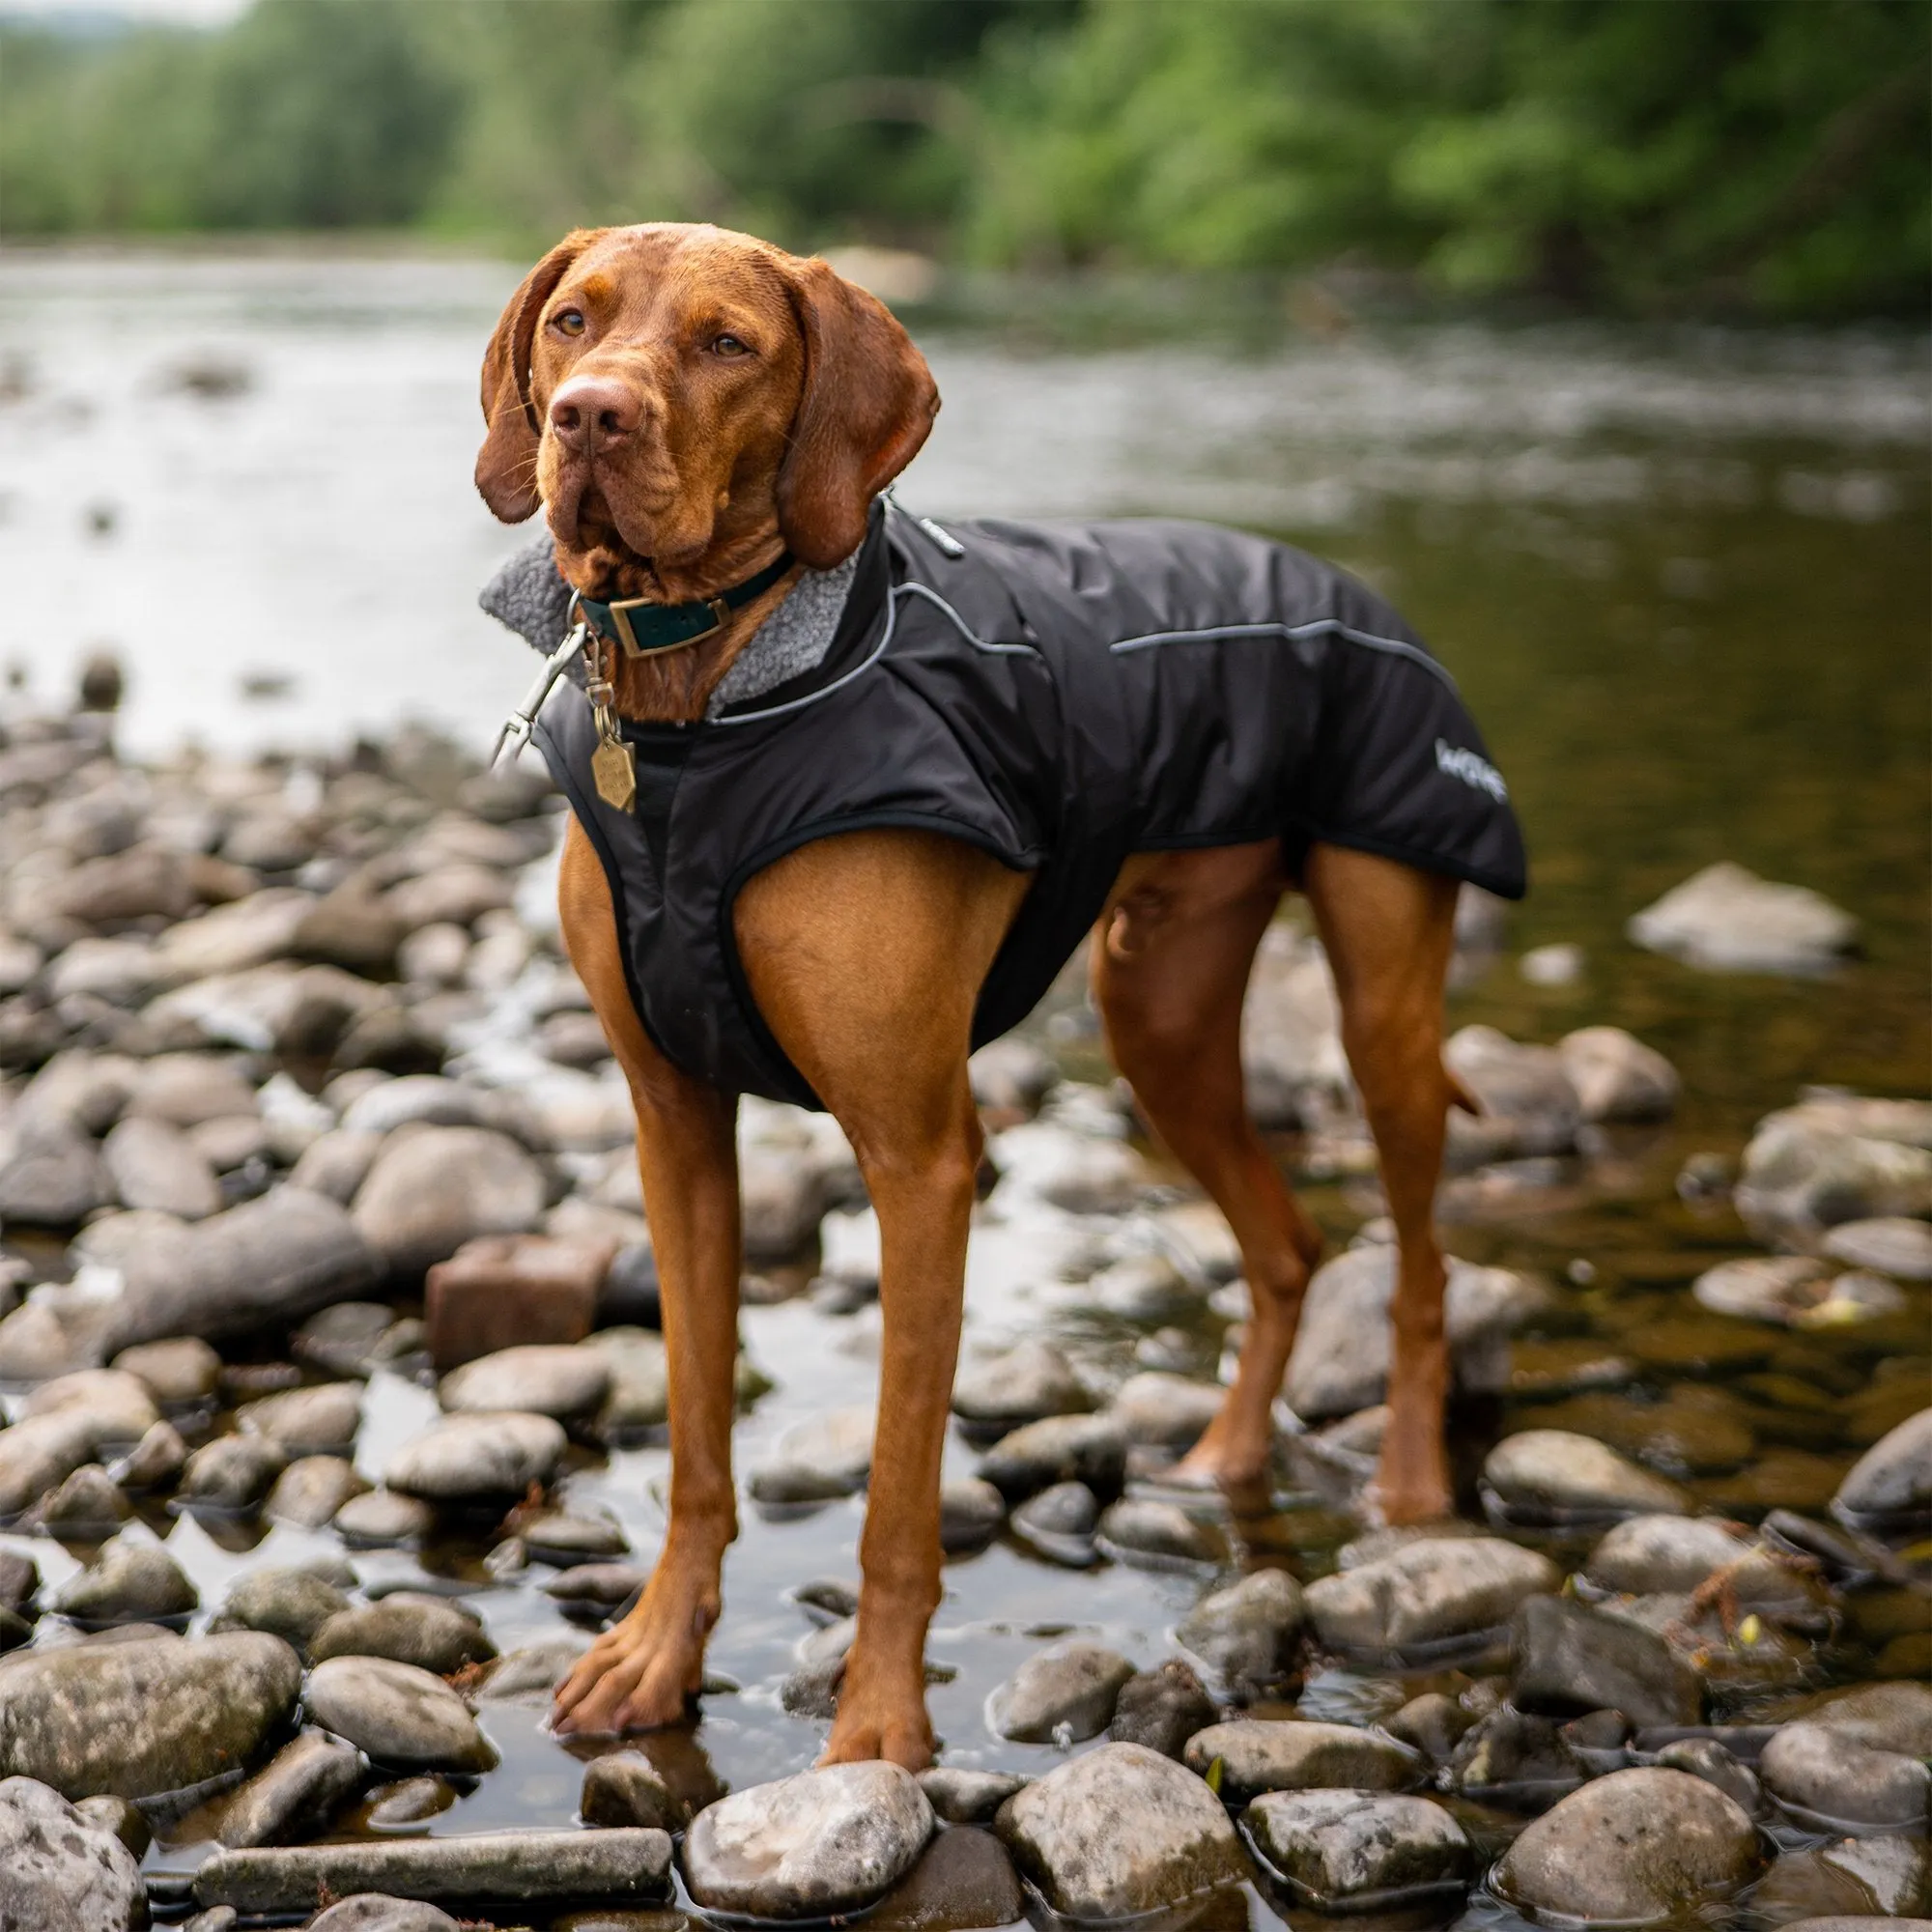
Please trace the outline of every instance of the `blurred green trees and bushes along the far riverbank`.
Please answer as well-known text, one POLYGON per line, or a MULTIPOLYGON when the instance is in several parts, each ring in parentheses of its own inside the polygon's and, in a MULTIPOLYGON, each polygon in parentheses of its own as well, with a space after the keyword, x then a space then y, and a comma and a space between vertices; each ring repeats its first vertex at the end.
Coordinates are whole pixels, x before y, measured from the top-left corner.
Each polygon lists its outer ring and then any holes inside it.
POLYGON ((989 265, 1922 309, 1928 0, 257 0, 0 29, 0 228, 711 218, 989 265))

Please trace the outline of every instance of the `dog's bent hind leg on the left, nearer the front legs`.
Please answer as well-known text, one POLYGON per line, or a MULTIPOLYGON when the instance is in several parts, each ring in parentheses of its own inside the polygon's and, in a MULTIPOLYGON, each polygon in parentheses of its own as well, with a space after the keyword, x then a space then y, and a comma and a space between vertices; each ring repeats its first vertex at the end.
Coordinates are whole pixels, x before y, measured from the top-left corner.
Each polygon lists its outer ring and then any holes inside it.
POLYGON ((1180 1480, 1267 1470, 1281 1389, 1321 1235, 1248 1117, 1240 1007, 1285 877, 1275 840, 1130 860, 1094 943, 1094 999, 1153 1130, 1227 1215, 1252 1296, 1235 1385, 1180 1480))

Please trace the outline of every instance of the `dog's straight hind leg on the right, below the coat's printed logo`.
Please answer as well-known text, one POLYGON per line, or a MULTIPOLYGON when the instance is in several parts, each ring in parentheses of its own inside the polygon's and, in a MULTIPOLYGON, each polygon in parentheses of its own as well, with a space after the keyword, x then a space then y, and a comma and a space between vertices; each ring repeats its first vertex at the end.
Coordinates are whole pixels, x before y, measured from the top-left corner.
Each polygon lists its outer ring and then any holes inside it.
POLYGON ((1457 1090, 1443 1066, 1443 980, 1455 945, 1453 879, 1372 852, 1318 844, 1304 887, 1335 968, 1343 1045, 1362 1092, 1399 1242, 1389 1426, 1374 1501, 1387 1522, 1451 1511, 1443 1451, 1449 1345, 1435 1186, 1457 1090))

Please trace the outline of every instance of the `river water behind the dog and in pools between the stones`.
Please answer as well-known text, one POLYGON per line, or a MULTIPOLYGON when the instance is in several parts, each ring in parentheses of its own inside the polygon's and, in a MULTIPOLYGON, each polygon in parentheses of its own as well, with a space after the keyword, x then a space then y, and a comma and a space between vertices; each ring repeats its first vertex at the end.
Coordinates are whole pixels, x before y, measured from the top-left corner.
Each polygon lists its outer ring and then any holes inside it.
MULTIPOLYGON (((54 692, 87 647, 112 643, 129 665, 135 750, 182 736, 325 746, 406 715, 487 742, 529 674, 527 651, 471 605, 522 541, 468 485, 475 359, 512 280, 462 261, 0 257, 0 369, 14 371, 0 384, 12 396, 0 402, 12 589, 0 657, 54 692), (213 400, 184 390, 174 373, 187 363, 234 369, 243 386, 213 400), (243 674, 286 680, 286 696, 251 699, 243 674)), ((1549 1420, 1648 1457, 1723 1515, 1820 1509, 1857 1451, 1922 1406, 1932 1298, 1913 1291, 1901 1316, 1820 1333, 1706 1316, 1689 1281, 1752 1244, 1729 1208, 1679 1200, 1675 1177, 1692 1151, 1735 1155, 1750 1122, 1804 1084, 1928 1084, 1924 340, 1408 327, 1242 352, 1078 352, 997 330, 935 332, 925 348, 947 410, 902 487, 910 504, 941 518, 1238 520, 1393 595, 1463 684, 1532 844, 1532 898, 1503 954, 1455 993, 1453 1024, 1553 1039, 1613 1022, 1683 1072, 1673 1122, 1607 1136, 1557 1186, 1451 1190, 1455 1252, 1557 1283, 1532 1341, 1638 1362, 1634 1385, 1611 1395, 1461 1412, 1464 1474, 1503 1430, 1549 1420), (1698 974, 1623 941, 1631 912, 1718 858, 1855 912, 1862 956, 1787 981, 1698 974), (1575 983, 1519 976, 1517 954, 1549 941, 1584 949, 1575 983), (1662 1428, 1687 1399, 1721 1408, 1733 1439, 1748 1432, 1739 1466, 1671 1463, 1662 1428)), ((1070 1068, 1099 1070, 1076 1009, 1055 1037, 1070 1068)), ((1306 1194, 1337 1242, 1374 1211, 1360 1184, 1306 1194)), ((1138 1331, 1032 1304, 1016 1283, 1034 1258, 1003 1246, 1014 1240, 976 1242, 972 1333, 1059 1327, 1082 1360, 1124 1374, 1138 1331)), ((875 1321, 806 1300, 746 1310, 748 1352, 779 1385, 740 1424, 740 1466, 790 1422, 869 1401, 875 1321)), ((1219 1323, 1198 1339, 1211 1360, 1219 1323)), ((357 1447, 365 1470, 431 1408, 427 1391, 381 1378, 357 1447)), ((954 1439, 949 1470, 970 1466, 954 1439)), ((614 1511, 647 1559, 665 1472, 661 1447, 582 1455, 566 1495, 614 1511)), ((858 1526, 856 1501, 784 1519, 746 1505, 711 1650, 738 1689, 705 1700, 694 1737, 649 1747, 667 1770, 746 1785, 811 1758, 823 1727, 777 1702, 810 1629, 786 1592, 856 1575, 858 1526)), ((259 1540, 193 1519, 156 1528, 207 1609, 247 1567, 340 1548, 286 1526, 259 1540)), ((1308 1497, 1244 1528, 1302 1577, 1349 1534, 1308 1497)), ((439 1548, 427 1565, 466 1586, 504 1650, 566 1631, 529 1578, 491 1584, 487 1546, 439 1548)), ((33 1549, 58 1582, 70 1559, 33 1549)), ((419 1575, 400 1553, 355 1563, 365 1584, 419 1575)), ((1059 1754, 995 1739, 985 1692, 1047 1629, 1159 1662, 1204 1577, 1121 1565, 1074 1577, 1001 1542, 951 1561, 947 1588, 931 1638, 933 1662, 956 1671, 931 1690, 947 1762, 1043 1770, 1059 1754)), ((1859 1605, 1824 1658, 1835 1679, 1872 1673, 1901 1629, 1895 1594, 1859 1605)), ((1333 1669, 1302 1710, 1362 1718, 1434 1681, 1397 1692, 1333 1669)), ((1748 1718, 1766 1694, 1748 1679, 1725 1687, 1719 1716, 1748 1718)), ((483 1723, 502 1770, 427 1830, 566 1822, 574 1752, 522 1706, 485 1704, 483 1723)), ((1499 1845, 1511 1826, 1484 1830, 1499 1845)), ((151 1866, 195 1857, 180 1837, 151 1866)), ((1258 1901, 1254 1913, 1275 1922, 1258 1901)), ((1513 1922, 1493 1903, 1470 1913, 1513 1922)))

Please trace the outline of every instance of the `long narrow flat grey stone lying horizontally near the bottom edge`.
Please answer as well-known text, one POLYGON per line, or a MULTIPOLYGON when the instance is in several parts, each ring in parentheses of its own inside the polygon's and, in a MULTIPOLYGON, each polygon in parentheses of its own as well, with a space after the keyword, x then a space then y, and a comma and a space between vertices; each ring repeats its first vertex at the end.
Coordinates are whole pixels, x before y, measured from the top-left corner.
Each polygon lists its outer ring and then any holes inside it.
MULTIPOLYGON (((547 1918, 541 1911, 545 1903, 587 1897, 659 1903, 670 1891, 668 1876, 670 1839, 663 1832, 477 1832, 468 1837, 220 1851, 195 1872, 195 1903, 288 1917, 313 1911, 323 1899, 340 1899, 330 1907, 332 1915, 355 1893, 381 1891, 456 1907, 526 1903, 537 1905, 537 1917, 547 1918)), ((338 1924, 352 1932, 392 1932, 384 1918, 338 1924)), ((427 1918, 402 1918, 394 1932, 442 1928, 427 1918)))

